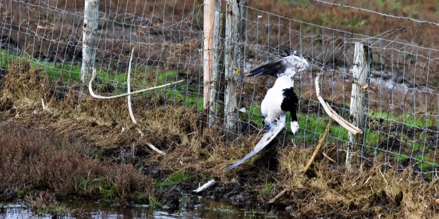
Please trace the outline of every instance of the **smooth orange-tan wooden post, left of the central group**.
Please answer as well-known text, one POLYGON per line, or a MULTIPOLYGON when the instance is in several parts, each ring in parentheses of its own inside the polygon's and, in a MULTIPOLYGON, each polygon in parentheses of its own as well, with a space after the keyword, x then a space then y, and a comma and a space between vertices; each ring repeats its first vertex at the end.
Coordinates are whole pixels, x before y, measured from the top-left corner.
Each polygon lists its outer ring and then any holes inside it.
MULTIPOLYGON (((212 81, 212 45, 214 36, 214 13, 216 0, 204 0, 203 20, 203 110, 209 109, 212 81)), ((208 118, 207 118, 208 119, 208 118)), ((209 123, 209 121, 207 121, 209 123)))

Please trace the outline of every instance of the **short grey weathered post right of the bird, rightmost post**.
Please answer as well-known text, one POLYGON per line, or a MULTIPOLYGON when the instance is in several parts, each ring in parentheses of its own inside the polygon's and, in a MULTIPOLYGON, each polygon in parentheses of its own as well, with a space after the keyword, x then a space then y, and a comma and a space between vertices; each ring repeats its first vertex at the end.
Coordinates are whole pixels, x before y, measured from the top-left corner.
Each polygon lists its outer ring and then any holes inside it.
POLYGON ((364 144, 366 136, 366 117, 369 103, 369 78, 370 78, 371 56, 370 48, 360 42, 355 43, 353 78, 351 91, 350 114, 354 126, 363 130, 362 135, 353 135, 349 132, 349 144, 346 149, 346 167, 352 166, 353 153, 358 145, 364 144))

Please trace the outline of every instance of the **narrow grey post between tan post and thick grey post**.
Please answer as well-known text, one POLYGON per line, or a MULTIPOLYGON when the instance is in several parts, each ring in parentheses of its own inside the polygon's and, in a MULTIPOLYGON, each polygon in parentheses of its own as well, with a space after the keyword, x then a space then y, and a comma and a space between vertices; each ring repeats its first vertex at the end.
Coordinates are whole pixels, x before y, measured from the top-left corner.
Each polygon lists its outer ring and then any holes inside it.
POLYGON ((224 73, 224 37, 225 37, 225 14, 221 13, 221 0, 217 1, 214 21, 214 40, 213 40, 213 63, 212 81, 210 87, 210 106, 209 106, 209 128, 213 126, 217 118, 222 118, 222 107, 220 101, 224 99, 222 90, 224 87, 221 76, 224 73))

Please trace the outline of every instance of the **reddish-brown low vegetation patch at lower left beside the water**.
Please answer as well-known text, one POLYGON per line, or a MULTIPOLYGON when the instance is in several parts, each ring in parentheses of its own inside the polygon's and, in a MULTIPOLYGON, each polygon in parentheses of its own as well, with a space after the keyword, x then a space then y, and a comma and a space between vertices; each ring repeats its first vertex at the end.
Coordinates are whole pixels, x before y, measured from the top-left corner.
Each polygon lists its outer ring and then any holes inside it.
POLYGON ((153 192, 152 180, 131 164, 93 159, 94 151, 80 139, 13 122, 0 123, 0 135, 0 185, 17 193, 48 189, 57 196, 80 193, 123 201, 135 192, 153 192))

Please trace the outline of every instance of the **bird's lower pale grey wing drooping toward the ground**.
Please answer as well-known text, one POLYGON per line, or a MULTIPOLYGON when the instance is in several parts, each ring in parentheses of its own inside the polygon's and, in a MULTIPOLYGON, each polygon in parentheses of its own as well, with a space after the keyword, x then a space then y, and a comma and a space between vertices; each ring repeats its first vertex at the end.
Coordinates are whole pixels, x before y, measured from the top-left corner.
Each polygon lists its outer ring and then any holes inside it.
POLYGON ((246 160, 250 159, 251 157, 253 157, 255 154, 259 153, 259 151, 261 151, 265 146, 267 146, 271 141, 273 141, 273 139, 278 136, 278 134, 285 128, 285 115, 282 115, 277 123, 277 126, 275 128, 272 128, 269 132, 265 133, 262 138, 260 139, 260 141, 258 142, 258 144, 255 146, 255 148, 248 153, 247 155, 245 155, 245 157, 243 157, 241 160, 239 160, 238 162, 236 162, 233 165, 230 165, 229 167, 227 167, 228 170, 231 170, 237 166, 239 166, 239 164, 244 163, 246 160))

